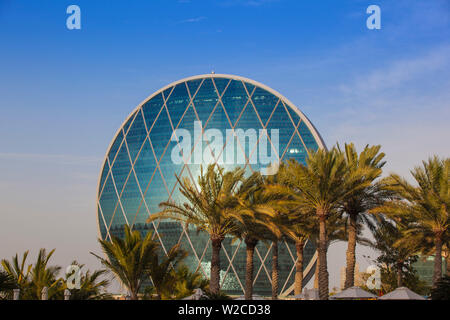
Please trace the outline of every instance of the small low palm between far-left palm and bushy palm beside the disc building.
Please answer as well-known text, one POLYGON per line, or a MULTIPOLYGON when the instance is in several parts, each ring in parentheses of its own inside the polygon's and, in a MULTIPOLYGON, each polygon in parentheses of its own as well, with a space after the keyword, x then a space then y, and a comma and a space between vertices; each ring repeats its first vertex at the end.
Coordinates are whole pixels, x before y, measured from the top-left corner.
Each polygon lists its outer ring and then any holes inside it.
MULTIPOLYGON (((79 266, 83 269, 84 264, 79 264, 73 261, 72 265, 79 266)), ((107 270, 95 270, 91 273, 90 270, 81 273, 80 288, 70 290, 70 300, 106 300, 111 299, 111 295, 105 292, 105 288, 109 285, 109 280, 101 279, 106 275, 107 270)), ((66 279, 68 278, 66 274, 66 279)))

